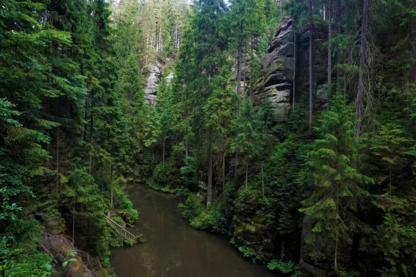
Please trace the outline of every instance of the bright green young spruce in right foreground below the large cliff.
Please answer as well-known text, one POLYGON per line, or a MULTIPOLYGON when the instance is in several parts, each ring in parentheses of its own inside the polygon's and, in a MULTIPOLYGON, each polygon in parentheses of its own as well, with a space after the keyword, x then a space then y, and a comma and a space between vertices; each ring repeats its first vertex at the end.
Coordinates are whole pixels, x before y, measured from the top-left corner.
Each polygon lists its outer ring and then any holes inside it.
POLYGON ((368 195, 364 186, 372 179, 352 167, 359 145, 351 107, 340 94, 331 102, 329 111, 322 113, 320 127, 315 127, 320 139, 312 143, 302 171, 302 184, 308 188, 309 197, 300 211, 315 219, 313 233, 331 239, 333 267, 338 272, 340 244, 351 242, 357 230, 354 212, 359 197, 368 195))

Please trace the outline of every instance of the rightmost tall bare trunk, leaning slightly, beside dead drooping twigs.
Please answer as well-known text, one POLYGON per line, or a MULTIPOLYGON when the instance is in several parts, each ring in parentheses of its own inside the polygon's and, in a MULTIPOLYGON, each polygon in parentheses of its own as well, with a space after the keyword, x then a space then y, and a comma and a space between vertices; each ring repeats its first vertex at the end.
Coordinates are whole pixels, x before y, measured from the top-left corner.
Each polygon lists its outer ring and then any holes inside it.
POLYGON ((363 91, 364 91, 364 71, 365 71, 365 51, 367 50, 367 21, 368 21, 368 1, 363 1, 363 17, 361 18, 361 46, 360 46, 360 73, 358 75, 358 91, 356 98, 356 132, 355 136, 361 133, 361 118, 363 116, 363 91))

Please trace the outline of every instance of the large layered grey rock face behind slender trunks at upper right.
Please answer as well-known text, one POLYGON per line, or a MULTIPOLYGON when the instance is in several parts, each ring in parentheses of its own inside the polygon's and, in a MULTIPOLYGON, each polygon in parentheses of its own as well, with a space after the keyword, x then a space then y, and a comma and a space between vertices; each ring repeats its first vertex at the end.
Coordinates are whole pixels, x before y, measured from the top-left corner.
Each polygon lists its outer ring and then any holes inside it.
MULTIPOLYGON (((327 74, 326 52, 322 48, 322 42, 327 38, 325 32, 325 26, 317 25, 313 28, 314 98, 316 98, 314 102, 317 106, 324 104, 320 93, 327 74)), ((295 100, 299 100, 303 93, 309 91, 309 25, 300 30, 296 44, 295 100)), ((261 63, 259 79, 254 87, 254 104, 260 105, 263 100, 269 98, 272 102, 275 122, 284 121, 291 110, 294 53, 293 20, 284 17, 277 27, 268 54, 261 63)))

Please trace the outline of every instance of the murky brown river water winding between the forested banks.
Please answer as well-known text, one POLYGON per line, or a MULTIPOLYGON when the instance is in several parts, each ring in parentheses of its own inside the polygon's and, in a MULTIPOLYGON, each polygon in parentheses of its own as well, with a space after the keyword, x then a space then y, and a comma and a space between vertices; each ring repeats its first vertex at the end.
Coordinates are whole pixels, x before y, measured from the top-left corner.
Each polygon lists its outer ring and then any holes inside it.
POLYGON ((139 222, 129 230, 143 233, 146 242, 112 250, 117 276, 275 276, 266 266, 243 258, 228 238, 192 229, 180 215, 173 195, 139 184, 129 185, 128 194, 140 212, 139 222))

